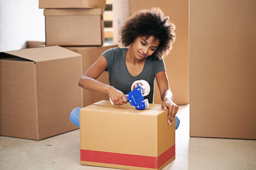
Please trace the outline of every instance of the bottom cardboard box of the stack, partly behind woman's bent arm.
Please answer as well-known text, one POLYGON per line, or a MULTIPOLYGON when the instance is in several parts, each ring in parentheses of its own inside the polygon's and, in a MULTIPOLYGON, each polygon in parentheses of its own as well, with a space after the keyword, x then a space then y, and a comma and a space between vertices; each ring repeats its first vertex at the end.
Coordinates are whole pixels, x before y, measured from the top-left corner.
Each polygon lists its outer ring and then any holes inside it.
MULTIPOLYGON (((99 58, 101 53, 110 48, 115 48, 115 44, 104 43, 103 46, 83 46, 83 47, 66 47, 82 55, 83 73, 99 58)), ((109 73, 104 71, 98 78, 98 81, 109 84, 109 73)), ((100 100, 109 100, 109 95, 101 92, 94 92, 83 89, 83 107, 91 105, 100 100)))

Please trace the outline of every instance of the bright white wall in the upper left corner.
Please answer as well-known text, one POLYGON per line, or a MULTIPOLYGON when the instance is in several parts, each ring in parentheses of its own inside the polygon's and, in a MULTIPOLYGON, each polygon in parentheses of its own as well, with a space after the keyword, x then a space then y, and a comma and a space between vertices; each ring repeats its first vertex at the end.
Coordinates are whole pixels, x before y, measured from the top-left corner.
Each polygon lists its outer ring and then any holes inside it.
POLYGON ((38 0, 0 0, 0 51, 25 48, 27 40, 45 42, 45 18, 38 0))

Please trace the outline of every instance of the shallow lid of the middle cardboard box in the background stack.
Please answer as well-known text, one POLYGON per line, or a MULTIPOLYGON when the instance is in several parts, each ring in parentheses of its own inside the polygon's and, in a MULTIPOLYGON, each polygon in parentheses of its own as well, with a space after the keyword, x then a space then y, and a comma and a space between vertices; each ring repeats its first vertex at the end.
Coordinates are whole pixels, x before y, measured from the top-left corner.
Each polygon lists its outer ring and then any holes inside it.
POLYGON ((103 15, 104 8, 97 9, 46 9, 43 11, 44 15, 103 15))

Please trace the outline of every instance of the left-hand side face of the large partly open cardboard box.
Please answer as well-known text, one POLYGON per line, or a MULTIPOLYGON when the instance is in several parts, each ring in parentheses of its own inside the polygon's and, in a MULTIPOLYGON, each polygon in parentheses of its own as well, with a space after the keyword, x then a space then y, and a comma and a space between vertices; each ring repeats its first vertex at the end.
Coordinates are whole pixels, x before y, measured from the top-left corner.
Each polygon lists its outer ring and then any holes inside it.
POLYGON ((0 135, 38 139, 35 71, 34 62, 0 59, 0 135))

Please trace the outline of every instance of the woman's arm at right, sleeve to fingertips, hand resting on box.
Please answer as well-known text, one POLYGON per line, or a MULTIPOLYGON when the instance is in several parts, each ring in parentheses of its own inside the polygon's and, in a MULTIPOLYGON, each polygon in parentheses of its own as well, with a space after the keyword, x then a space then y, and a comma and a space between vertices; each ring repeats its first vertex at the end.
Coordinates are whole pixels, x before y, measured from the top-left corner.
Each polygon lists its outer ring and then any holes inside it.
POLYGON ((173 102, 173 93, 171 93, 168 77, 165 71, 160 71, 156 74, 156 81, 160 91, 161 100, 163 101, 162 108, 164 110, 167 108, 169 109, 167 122, 171 125, 175 114, 178 112, 179 106, 173 102))

